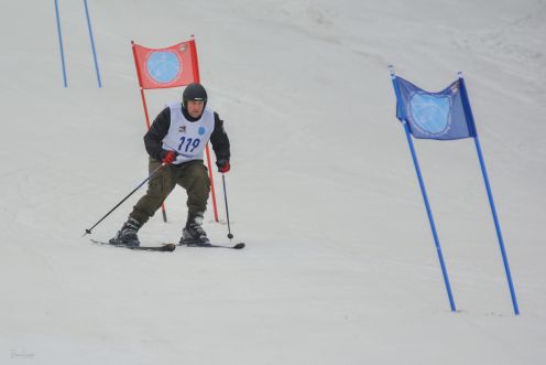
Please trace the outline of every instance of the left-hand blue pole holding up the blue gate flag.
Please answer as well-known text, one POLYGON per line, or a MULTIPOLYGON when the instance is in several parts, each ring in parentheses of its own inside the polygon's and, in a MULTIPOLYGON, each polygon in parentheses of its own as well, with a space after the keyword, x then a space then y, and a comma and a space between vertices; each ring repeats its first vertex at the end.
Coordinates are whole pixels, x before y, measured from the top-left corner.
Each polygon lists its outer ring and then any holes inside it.
MULTIPOLYGON (((398 85, 396 82, 396 76, 394 75, 394 69, 392 66, 390 66, 389 69, 391 72, 391 79, 393 82, 393 87, 394 87, 394 93, 396 95, 396 100, 398 100, 400 99, 400 89, 398 89, 398 85)), ((405 120, 403 121, 403 124, 404 124, 404 130, 406 132, 407 143, 410 146, 410 151, 412 152, 412 159, 413 159, 413 163, 415 167, 415 172, 417 173, 417 180, 419 182, 421 193, 423 194, 423 200, 425 202, 425 207, 426 207, 426 212, 428 215, 428 222, 430 223, 430 229, 433 232, 434 243, 436 245, 436 253, 438 254, 438 260, 440 262, 441 273, 444 276, 444 282, 446 285, 447 297, 449 299, 449 305, 451 308, 451 311, 455 312, 457 309, 455 307, 455 300, 454 300, 454 294, 451 292, 451 286, 449 285, 449 277, 447 275, 446 262, 444 260, 444 255, 441 254, 441 247, 440 247, 440 241, 439 241, 438 234, 436 230, 436 224, 434 223, 433 211, 430 208, 430 203, 428 202, 428 195, 426 192, 425 182, 423 180, 423 174, 421 173, 419 162, 417 160, 417 154, 415 153, 415 147, 414 147, 413 141, 412 141, 412 136, 410 133, 410 127, 407 126, 407 122, 405 120)))

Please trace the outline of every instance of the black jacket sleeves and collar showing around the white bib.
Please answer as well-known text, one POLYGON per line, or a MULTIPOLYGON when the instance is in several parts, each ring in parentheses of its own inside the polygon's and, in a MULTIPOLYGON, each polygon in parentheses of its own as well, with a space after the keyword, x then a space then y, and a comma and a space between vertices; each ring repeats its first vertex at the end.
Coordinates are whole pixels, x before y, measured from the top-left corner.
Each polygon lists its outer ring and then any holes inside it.
MULTIPOLYGON (((189 121, 196 121, 185 108, 182 108, 184 117, 189 121)), ((148 153, 157 161, 162 160, 163 151, 163 138, 168 132, 171 128, 171 109, 166 107, 162 112, 155 117, 152 122, 150 130, 144 135, 144 144, 146 147, 148 153)), ((216 154, 216 160, 229 160, 229 139, 226 130, 223 130, 223 120, 220 119, 218 114, 215 111, 215 130, 210 135, 210 142, 212 143, 212 150, 216 154)))

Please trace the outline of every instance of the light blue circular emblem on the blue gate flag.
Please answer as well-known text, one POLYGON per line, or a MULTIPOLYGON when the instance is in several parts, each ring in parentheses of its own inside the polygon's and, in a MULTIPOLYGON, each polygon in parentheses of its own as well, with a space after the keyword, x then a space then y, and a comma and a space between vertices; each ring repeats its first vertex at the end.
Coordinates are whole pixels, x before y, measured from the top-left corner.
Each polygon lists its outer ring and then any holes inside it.
POLYGON ((439 135, 450 125, 450 97, 415 93, 410 99, 410 114, 423 131, 439 135))

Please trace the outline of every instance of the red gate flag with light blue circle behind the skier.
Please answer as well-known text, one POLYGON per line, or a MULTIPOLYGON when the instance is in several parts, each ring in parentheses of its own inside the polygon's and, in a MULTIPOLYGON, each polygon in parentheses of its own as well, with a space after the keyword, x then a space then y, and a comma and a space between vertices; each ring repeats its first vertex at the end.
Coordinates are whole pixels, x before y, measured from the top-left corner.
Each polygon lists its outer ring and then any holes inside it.
POLYGON ((199 82, 195 41, 165 49, 146 49, 133 43, 134 62, 142 88, 167 88, 199 82))

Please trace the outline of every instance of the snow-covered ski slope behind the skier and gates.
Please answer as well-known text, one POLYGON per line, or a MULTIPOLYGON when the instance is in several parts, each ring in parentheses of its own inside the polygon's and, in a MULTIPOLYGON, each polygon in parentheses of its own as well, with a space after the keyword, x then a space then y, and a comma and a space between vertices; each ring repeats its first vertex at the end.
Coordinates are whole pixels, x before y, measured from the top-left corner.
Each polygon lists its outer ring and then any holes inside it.
MULTIPOLYGON (((0 13, 1 364, 544 363, 544 1, 90 0, 100 89, 83 1, 59 10, 67 88, 54 2, 0 13), (232 142, 230 217, 248 249, 90 245, 84 229, 146 175, 130 41, 190 34, 232 142), (429 90, 465 73, 520 316, 473 142, 416 141, 449 311, 390 63, 429 90)), ((179 95, 148 92, 151 115, 179 95)), ((185 193, 166 206, 143 241, 178 239, 185 193)), ((206 229, 227 241, 211 207, 206 229)))

